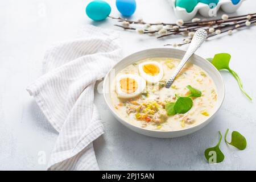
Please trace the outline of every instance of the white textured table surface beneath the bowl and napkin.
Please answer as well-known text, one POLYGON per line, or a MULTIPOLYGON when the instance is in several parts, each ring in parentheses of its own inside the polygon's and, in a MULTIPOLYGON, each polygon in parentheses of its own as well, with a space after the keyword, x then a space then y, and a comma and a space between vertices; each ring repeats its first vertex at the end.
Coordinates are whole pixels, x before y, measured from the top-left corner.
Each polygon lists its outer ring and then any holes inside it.
MULTIPOLYGON (((25 88, 42 72, 42 58, 47 47, 56 41, 74 38, 85 24, 120 31, 123 56, 145 48, 162 47, 178 39, 156 40, 114 27, 114 20, 91 22, 85 16, 89 1, 1 1, 0 6, 0 169, 46 169, 38 163, 39 155, 46 152, 47 160, 57 133, 28 96, 25 88)), ((112 4, 112 15, 118 11, 112 4)), ((256 12, 256 1, 247 0, 236 14, 256 12)), ((221 13, 220 13, 221 14, 221 13)), ((167 0, 138 0, 133 18, 148 22, 176 22, 167 0)), ((180 39, 179 39, 180 40, 180 39)), ((215 38, 204 43, 197 54, 211 57, 214 53, 229 52, 230 67, 242 78, 247 92, 254 98, 247 100, 236 80, 222 72, 226 97, 213 121, 200 131, 180 138, 156 139, 144 137, 122 126, 96 93, 105 125, 105 134, 94 142, 101 169, 256 169, 256 26, 239 31, 233 36, 215 38), (244 151, 227 147, 221 149, 224 162, 207 164, 204 150, 214 146, 218 130, 238 130, 247 138, 244 151)), ((186 49, 187 47, 181 47, 186 49)))

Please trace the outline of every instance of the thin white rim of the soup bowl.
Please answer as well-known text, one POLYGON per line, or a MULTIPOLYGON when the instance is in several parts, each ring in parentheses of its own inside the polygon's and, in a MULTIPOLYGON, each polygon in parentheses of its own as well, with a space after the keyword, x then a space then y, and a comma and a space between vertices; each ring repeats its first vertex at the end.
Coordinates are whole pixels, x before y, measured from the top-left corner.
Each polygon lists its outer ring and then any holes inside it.
MULTIPOLYGON (((207 121, 212 121, 212 118, 216 115, 216 113, 218 112, 218 110, 220 110, 220 107, 222 106, 222 104, 223 104, 223 102, 224 102, 224 98, 225 98, 225 84, 224 84, 224 80, 223 80, 223 78, 222 78, 220 72, 217 70, 217 68, 215 68, 211 63, 209 63, 209 61, 208 61, 207 59, 205 59, 205 58, 203 58, 203 57, 201 57, 201 56, 199 56, 199 55, 197 55, 197 54, 194 54, 194 55, 200 57, 201 59, 204 59, 204 60, 207 62, 207 64, 211 67, 211 69, 213 69, 213 70, 217 73, 218 77, 220 77, 220 81, 221 81, 221 85, 222 85, 222 93, 223 93, 223 96, 222 96, 221 98, 218 98, 218 99, 220 99, 220 104, 219 104, 219 106, 216 107, 216 110, 214 111, 214 113, 213 113, 209 118, 205 119, 203 122, 200 122, 200 123, 198 123, 197 125, 193 125, 192 127, 188 127, 188 128, 184 128, 184 129, 178 129, 178 130, 173 130, 173 131, 170 131, 170 130, 169 130, 169 131, 161 131, 161 130, 144 129, 144 128, 142 128, 142 127, 133 125, 133 124, 131 124, 131 123, 125 121, 125 119, 119 117, 119 115, 117 114, 117 112, 110 106, 110 103, 108 102, 108 100, 107 100, 107 98, 106 98, 106 92, 105 92, 105 87, 106 87, 106 86, 105 86, 105 85, 106 85, 106 77, 109 76, 109 74, 110 74, 110 72, 112 71, 112 69, 113 69, 114 67, 116 67, 116 65, 118 65, 119 63, 121 63, 123 60, 127 59, 127 58, 130 57, 130 56, 138 55, 138 54, 140 54, 140 53, 142 53, 142 52, 145 52, 145 51, 153 51, 153 50, 157 50, 157 49, 166 49, 166 50, 170 50, 170 51, 171 51, 171 50, 175 50, 175 51, 181 51, 181 52, 183 52, 183 53, 186 52, 186 51, 184 51, 184 50, 182 50, 182 49, 176 49, 176 48, 148 48, 148 49, 142 49, 141 51, 137 51, 137 52, 131 53, 131 54, 129 54, 129 55, 123 57, 121 60, 117 61, 117 63, 115 63, 115 64, 113 65, 113 67, 109 70, 109 72, 108 72, 108 73, 106 74, 106 76, 104 77, 104 81, 103 81, 103 84, 102 84, 102 92, 103 92, 103 95, 104 95, 104 100, 105 100, 106 104, 108 105, 110 111, 112 111, 112 114, 114 115, 114 117, 115 117, 116 119, 118 118, 118 119, 117 119, 118 122, 121 122, 120 120, 122 120, 122 121, 125 122, 127 125, 129 125, 130 127, 134 127, 134 128, 136 128, 136 129, 138 129, 138 130, 142 130, 142 131, 145 131, 145 132, 150 131, 150 132, 159 133, 159 134, 160 134, 160 133, 176 133, 176 132, 180 132, 180 131, 189 131, 189 130, 195 129, 196 127, 200 127, 201 125, 204 125, 204 123, 207 122, 207 121)), ((138 61, 138 60, 137 60, 137 61, 138 61)), ((215 82, 214 82, 214 83, 215 83, 215 82)), ((122 123, 122 122, 121 122, 121 123, 122 123)), ((122 124, 123 124, 123 123, 122 123, 122 124)), ((127 127, 127 126, 126 126, 126 127, 127 127)))

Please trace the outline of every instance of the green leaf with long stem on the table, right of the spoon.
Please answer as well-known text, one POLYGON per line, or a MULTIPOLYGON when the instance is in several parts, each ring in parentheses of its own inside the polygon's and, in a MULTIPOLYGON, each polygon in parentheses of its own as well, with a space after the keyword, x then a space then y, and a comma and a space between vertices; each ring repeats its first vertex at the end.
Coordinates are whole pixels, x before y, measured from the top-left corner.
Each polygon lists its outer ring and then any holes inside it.
POLYGON ((233 75, 233 77, 236 78, 238 85, 241 91, 243 92, 243 94, 245 94, 245 96, 249 98, 249 100, 253 100, 243 89, 243 84, 240 77, 237 75, 235 71, 229 68, 230 59, 231 59, 231 56, 228 53, 218 53, 217 55, 214 55, 213 59, 208 58, 207 60, 212 62, 214 67, 216 67, 218 70, 227 69, 233 75))

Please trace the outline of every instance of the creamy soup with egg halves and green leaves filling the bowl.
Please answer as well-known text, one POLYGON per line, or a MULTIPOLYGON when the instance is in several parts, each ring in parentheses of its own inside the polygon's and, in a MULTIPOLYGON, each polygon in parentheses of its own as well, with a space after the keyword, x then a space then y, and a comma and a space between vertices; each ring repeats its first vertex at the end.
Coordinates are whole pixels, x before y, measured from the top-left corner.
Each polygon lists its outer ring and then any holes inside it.
POLYGON ((197 65, 187 63, 165 88, 179 60, 150 58, 122 69, 111 86, 119 117, 148 130, 175 131, 198 125, 214 113, 216 86, 197 65))

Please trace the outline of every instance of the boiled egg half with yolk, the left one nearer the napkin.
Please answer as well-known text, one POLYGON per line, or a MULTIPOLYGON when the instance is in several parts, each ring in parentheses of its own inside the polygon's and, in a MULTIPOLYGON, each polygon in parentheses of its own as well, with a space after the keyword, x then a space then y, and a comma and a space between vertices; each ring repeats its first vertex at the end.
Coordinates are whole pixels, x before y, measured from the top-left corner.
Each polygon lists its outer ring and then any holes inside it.
POLYGON ((115 92, 119 98, 139 96, 146 87, 146 81, 139 75, 119 75, 115 81, 115 92))

